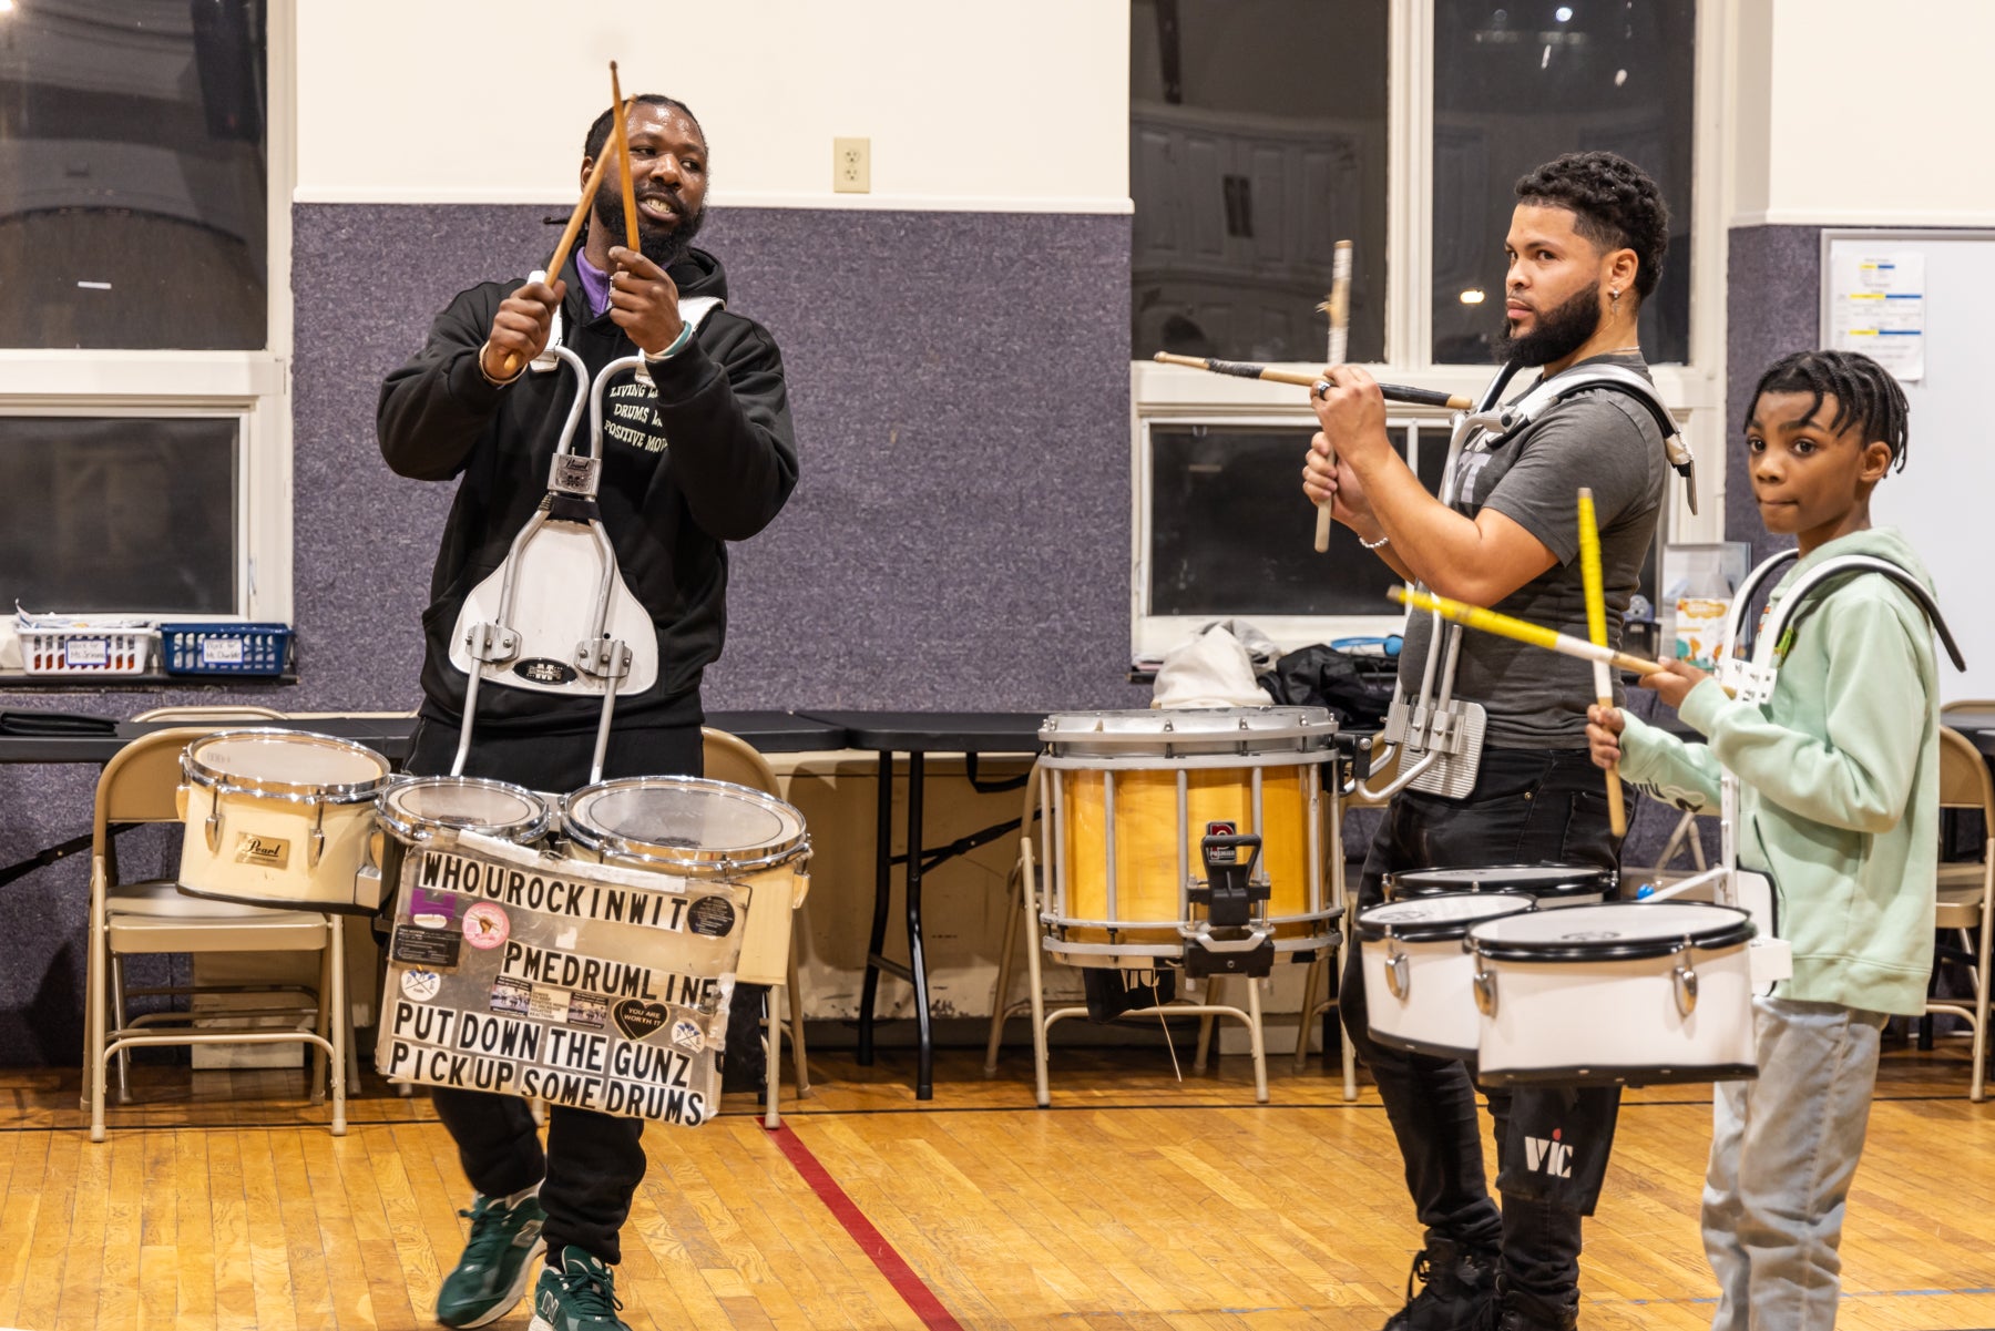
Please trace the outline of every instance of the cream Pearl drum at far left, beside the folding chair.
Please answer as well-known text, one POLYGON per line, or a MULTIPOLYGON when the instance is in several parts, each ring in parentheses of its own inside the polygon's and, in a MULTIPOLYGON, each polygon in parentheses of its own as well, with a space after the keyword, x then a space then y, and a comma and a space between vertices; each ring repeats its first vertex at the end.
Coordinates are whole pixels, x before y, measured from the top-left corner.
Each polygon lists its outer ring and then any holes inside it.
POLYGON ((361 874, 387 758, 331 734, 217 730, 180 754, 180 890, 251 906, 373 914, 361 874))

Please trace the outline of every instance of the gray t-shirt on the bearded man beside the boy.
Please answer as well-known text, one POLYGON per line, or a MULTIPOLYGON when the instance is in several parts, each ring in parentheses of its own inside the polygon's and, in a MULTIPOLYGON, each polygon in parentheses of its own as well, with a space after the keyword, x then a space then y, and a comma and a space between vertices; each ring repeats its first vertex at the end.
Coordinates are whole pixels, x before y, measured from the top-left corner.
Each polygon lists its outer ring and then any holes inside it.
MULTIPOLYGON (((1598 355, 1586 365, 1626 365, 1648 375, 1640 353, 1598 355)), ((1526 389, 1528 391, 1528 389, 1526 389)), ((1590 389, 1556 403, 1488 453, 1462 451, 1454 509, 1474 517, 1496 509, 1538 537, 1558 565, 1488 607, 1534 625, 1586 637, 1580 579, 1578 491, 1594 491, 1600 521, 1600 579, 1608 603, 1608 643, 1622 641, 1622 611, 1634 597, 1642 561, 1656 539, 1670 463, 1648 407, 1620 389, 1590 389)), ((1398 682, 1418 696, 1432 617, 1414 613, 1398 659, 1398 682)), ((1436 670, 1438 674, 1438 670, 1436 670)), ((1438 678, 1436 678, 1438 694, 1438 678)), ((1484 742, 1496 748, 1584 748, 1594 668, 1474 629, 1462 631, 1454 696, 1488 712, 1484 742)), ((1614 700, 1622 700, 1620 680, 1614 700)))

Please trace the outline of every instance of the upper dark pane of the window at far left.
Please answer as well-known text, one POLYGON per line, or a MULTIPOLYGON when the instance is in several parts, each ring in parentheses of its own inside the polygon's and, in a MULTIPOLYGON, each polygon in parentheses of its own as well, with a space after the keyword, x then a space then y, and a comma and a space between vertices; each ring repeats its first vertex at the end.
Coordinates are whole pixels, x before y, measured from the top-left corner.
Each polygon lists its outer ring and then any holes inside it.
POLYGON ((0 343, 261 349, 263 0, 34 0, 0 28, 0 343))

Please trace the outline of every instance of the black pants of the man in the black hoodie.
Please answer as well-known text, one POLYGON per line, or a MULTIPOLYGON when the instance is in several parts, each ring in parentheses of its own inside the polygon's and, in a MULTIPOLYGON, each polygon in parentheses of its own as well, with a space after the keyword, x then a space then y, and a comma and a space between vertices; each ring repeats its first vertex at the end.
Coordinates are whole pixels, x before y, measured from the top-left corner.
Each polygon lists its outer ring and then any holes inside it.
MULTIPOLYGON (((473 736, 465 776, 511 780, 531 790, 581 790, 589 784, 595 742, 593 732, 473 736)), ((427 718, 417 724, 411 772, 449 772, 455 756, 453 726, 427 718)), ((602 762, 604 778, 698 776, 700 770, 698 726, 616 730, 602 762)), ((549 1265, 559 1265, 561 1249, 569 1245, 610 1265, 622 1259, 616 1235, 630 1217, 630 1197, 644 1179, 644 1145, 638 1141, 644 1119, 549 1106, 543 1151, 533 1111, 519 1096, 443 1086, 433 1086, 429 1094, 437 1117, 457 1141, 457 1159, 475 1189, 487 1197, 505 1197, 541 1185, 549 1265)))

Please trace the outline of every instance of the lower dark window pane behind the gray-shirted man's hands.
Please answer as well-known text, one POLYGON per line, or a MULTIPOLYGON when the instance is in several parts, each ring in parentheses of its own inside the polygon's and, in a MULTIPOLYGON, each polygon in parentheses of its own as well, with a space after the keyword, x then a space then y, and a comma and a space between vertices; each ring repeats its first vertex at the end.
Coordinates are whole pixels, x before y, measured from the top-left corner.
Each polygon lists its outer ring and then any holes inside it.
MULTIPOLYGON (((1395 615, 1393 573, 1331 527, 1315 551, 1317 511, 1303 497, 1307 425, 1153 425, 1149 505, 1151 615, 1395 615)), ((1406 431, 1395 429, 1396 447, 1406 431)))

